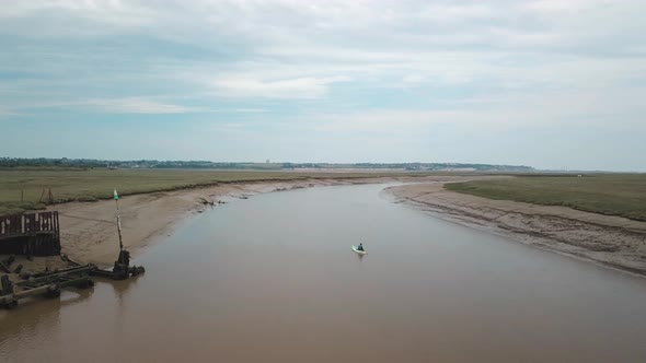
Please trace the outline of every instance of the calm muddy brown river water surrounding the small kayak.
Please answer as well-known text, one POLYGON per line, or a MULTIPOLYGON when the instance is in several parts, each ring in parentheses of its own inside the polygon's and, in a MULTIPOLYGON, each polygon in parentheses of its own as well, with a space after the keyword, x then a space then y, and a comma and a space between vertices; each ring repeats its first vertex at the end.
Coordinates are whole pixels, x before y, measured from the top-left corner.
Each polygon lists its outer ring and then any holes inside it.
POLYGON ((646 362, 646 279, 438 220, 382 188, 197 215, 136 260, 143 277, 0 312, 0 361, 646 362))

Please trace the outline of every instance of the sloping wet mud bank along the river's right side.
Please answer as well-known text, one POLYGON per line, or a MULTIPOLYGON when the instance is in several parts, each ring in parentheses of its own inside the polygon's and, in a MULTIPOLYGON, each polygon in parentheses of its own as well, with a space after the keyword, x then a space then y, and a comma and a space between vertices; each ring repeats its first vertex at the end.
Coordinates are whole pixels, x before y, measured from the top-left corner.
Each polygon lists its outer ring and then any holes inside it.
POLYGON ((404 202, 441 219, 646 276, 646 222, 565 207, 492 200, 446 190, 443 183, 391 187, 404 202))

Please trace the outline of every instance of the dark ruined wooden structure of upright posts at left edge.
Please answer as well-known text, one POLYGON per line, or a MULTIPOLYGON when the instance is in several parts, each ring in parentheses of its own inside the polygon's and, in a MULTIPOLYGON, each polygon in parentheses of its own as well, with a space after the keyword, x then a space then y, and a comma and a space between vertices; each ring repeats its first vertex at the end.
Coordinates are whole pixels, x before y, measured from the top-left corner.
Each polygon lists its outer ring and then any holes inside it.
POLYGON ((0 255, 60 254, 58 212, 0 215, 0 255))

